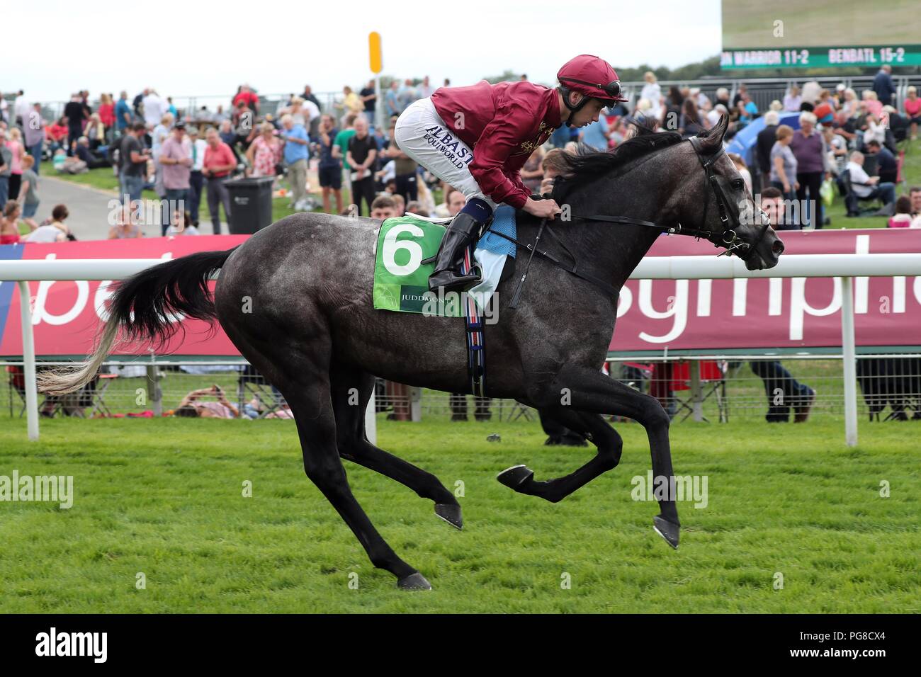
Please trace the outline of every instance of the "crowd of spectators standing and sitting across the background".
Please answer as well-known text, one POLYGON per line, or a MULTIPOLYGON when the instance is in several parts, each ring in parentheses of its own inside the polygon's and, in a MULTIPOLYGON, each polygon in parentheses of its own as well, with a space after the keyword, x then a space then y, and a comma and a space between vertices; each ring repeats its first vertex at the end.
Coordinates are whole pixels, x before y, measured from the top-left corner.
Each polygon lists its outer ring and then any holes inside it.
MULTIPOLYGON (((446 79, 444 85, 449 84, 446 79)), ((20 90, 0 122, 0 209, 11 196, 20 202, 21 219, 29 228, 37 228, 29 218, 39 202, 38 177, 44 159, 61 173, 112 167, 126 204, 135 204, 143 190, 151 189, 163 204, 178 205, 161 210, 160 234, 197 233, 203 196, 211 232, 222 232, 232 210, 227 181, 239 176, 274 177, 274 194, 287 196, 295 210, 321 207, 327 213, 369 216, 378 197, 397 196, 389 209, 398 215, 412 211, 447 216, 449 186, 439 186, 434 176, 392 142, 396 118, 434 89, 427 76, 393 78, 380 93, 370 80, 357 90, 344 87, 342 96, 328 101, 324 110, 309 86, 280 106, 270 107, 255 88, 243 84, 229 100, 227 111, 223 105, 215 111, 207 106, 177 110, 157 88, 144 88, 133 98, 124 90, 117 98, 104 93, 98 101, 80 90, 57 120, 45 120, 41 105, 30 102, 20 90), (380 119, 383 124, 378 124, 380 119), (23 192, 26 158, 32 158, 29 169, 34 176, 25 181, 23 192), (309 185, 310 167, 316 169, 319 186, 309 185), (444 200, 434 204, 432 192, 438 187, 444 200), (310 196, 316 188, 321 204, 310 196), (344 194, 354 204, 345 204, 344 194)), ((883 204, 878 214, 892 216, 897 200, 894 143, 900 134, 915 139, 921 122, 916 89, 908 88, 901 112, 893 107, 895 93, 891 68, 883 66, 872 88, 859 96, 844 84, 829 91, 810 82, 789 88, 782 100, 762 111, 744 85, 734 92, 718 88, 710 99, 699 88, 672 85, 663 90, 657 76, 647 72, 633 101, 608 109, 584 129, 558 129, 548 144, 534 149, 521 177, 532 190, 541 190, 548 150, 572 149, 576 144, 612 148, 624 140, 630 123, 638 118, 651 117, 660 129, 689 137, 726 115, 728 139, 764 118, 757 139, 757 166, 749 168, 741 158, 733 161, 750 187, 771 185, 788 200, 810 204, 802 215, 789 210, 789 223, 782 227, 827 225, 823 184, 841 182, 843 177, 846 187, 841 190, 849 194, 849 214, 858 213, 860 202, 878 199, 883 204), (799 129, 779 123, 779 116, 787 112, 799 112, 799 129)), ((141 213, 138 207, 136 214, 141 213)), ((136 226, 138 217, 132 220, 136 226)), ((121 223, 113 227, 110 237, 135 237, 140 232, 140 228, 123 227, 121 223)))

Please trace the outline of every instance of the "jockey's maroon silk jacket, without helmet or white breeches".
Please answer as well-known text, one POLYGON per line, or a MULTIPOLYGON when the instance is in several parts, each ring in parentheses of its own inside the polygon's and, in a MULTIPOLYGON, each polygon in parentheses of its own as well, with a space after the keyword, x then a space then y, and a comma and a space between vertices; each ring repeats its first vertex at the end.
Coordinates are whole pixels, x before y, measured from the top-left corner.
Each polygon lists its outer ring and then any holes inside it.
POLYGON ((429 133, 447 148, 454 137, 471 147, 470 173, 496 204, 524 206, 530 191, 519 171, 562 124, 556 90, 528 81, 490 85, 483 80, 470 87, 438 88, 432 104, 447 129, 429 133))

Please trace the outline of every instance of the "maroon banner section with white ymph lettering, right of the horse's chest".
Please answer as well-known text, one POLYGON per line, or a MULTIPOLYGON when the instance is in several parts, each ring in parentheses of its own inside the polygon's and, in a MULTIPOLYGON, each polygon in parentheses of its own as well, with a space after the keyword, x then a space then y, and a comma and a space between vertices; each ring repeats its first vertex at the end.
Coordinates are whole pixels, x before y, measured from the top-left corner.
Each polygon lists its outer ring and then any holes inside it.
MULTIPOLYGON (((921 230, 782 231, 784 256, 921 251, 921 230)), ((660 237, 652 256, 714 256, 712 244, 660 237)), ((921 274, 921 271, 918 271, 921 274)), ((858 346, 921 345, 921 277, 856 277, 858 346)), ((630 280, 610 350, 803 349, 841 345, 841 283, 827 277, 630 280)))

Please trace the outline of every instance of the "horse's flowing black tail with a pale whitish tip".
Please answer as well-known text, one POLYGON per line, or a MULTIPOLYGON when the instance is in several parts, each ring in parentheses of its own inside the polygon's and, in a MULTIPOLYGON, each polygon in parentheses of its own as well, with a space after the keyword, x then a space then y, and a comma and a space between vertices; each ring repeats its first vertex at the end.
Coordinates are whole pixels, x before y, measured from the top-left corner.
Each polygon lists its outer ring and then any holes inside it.
POLYGON ((63 395, 82 388, 96 376, 116 339, 119 343, 162 347, 180 329, 170 315, 181 313, 213 323, 216 311, 208 280, 233 251, 199 251, 126 278, 109 300, 109 320, 92 355, 74 367, 42 371, 37 376, 39 391, 63 395))

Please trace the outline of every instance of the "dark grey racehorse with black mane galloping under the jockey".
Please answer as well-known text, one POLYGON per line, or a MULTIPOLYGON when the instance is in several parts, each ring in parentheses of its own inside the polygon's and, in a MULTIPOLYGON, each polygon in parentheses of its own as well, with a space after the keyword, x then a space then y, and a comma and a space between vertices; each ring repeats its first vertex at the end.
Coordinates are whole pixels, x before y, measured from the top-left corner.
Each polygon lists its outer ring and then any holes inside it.
MULTIPOLYGON (((597 453, 572 473, 543 481, 513 466, 499 474, 503 484, 557 502, 614 468, 622 439, 600 414, 627 416, 644 426, 655 475, 673 476, 668 414, 655 398, 604 376, 600 365, 614 331, 617 292, 662 233, 652 224, 690 227, 729 246, 750 270, 777 263, 783 243, 774 230, 740 217, 739 205, 752 195, 722 152, 727 124, 724 118, 693 143, 641 127, 612 152, 568 159, 570 170, 554 197, 573 216, 554 228, 582 276, 534 258, 521 303, 509 309, 527 261, 518 257, 515 274, 497 290, 498 320, 485 330, 487 394, 541 409, 585 434, 597 453)), ((519 239, 532 241, 539 222, 523 212, 517 217, 519 239)), ((456 319, 373 308, 378 229, 379 222, 367 218, 297 214, 236 249, 195 253, 135 274, 111 297, 94 354, 75 368, 43 373, 41 390, 79 388, 116 340, 163 344, 181 331, 170 315, 219 321, 240 353, 284 394, 309 479, 355 532, 371 563, 390 571, 402 589, 430 589, 367 518, 342 459, 405 484, 432 500, 437 516, 461 528, 453 494, 433 474, 371 444, 364 413, 375 376, 469 392, 465 330, 456 319), (208 283, 217 271, 212 300, 208 283)), ((677 547, 673 498, 659 501, 654 527, 677 547)))

